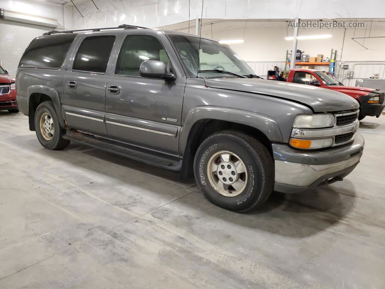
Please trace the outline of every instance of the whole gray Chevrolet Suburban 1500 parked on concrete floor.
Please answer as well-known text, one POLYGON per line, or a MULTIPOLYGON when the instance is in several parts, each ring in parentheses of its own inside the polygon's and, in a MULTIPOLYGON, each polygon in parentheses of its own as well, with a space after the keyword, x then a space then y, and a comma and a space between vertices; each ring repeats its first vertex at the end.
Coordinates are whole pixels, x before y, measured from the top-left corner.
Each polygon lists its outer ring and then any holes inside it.
POLYGON ((364 146, 352 97, 260 78, 197 35, 53 31, 20 60, 17 105, 47 149, 75 141, 194 175, 210 202, 244 212, 342 180, 364 146))

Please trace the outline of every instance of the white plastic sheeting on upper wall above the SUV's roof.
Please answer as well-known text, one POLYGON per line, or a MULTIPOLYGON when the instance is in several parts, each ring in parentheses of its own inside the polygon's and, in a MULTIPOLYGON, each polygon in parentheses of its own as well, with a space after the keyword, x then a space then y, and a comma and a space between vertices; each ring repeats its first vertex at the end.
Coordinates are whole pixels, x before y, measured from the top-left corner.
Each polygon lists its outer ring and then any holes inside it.
POLYGON ((76 29, 133 24, 159 27, 197 17, 223 19, 383 18, 383 0, 94 0, 76 4, 76 29), (203 8, 203 9, 202 9, 203 8))

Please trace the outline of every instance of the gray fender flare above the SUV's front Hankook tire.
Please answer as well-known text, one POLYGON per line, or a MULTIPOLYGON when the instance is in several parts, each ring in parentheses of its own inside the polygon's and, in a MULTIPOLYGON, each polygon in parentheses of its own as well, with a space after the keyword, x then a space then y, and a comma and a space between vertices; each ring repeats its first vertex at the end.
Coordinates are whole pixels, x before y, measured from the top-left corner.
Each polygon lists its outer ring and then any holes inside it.
POLYGON ((203 119, 215 119, 244 124, 258 129, 266 135, 270 141, 282 143, 283 138, 278 124, 264 115, 234 108, 220 108, 213 106, 200 106, 193 108, 187 114, 179 142, 179 151, 184 155, 187 140, 192 126, 203 119))

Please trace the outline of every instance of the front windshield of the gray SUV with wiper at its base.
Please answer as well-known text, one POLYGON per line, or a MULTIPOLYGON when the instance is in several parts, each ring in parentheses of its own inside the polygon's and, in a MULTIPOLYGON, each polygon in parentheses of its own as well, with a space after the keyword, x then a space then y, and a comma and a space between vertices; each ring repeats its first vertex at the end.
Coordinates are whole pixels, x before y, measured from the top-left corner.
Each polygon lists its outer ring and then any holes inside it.
POLYGON ((214 40, 201 39, 201 47, 199 49, 199 37, 169 35, 169 38, 177 50, 188 77, 229 77, 231 74, 228 72, 241 76, 255 75, 253 69, 226 44, 220 44, 214 40), (216 69, 227 72, 213 71, 216 69))

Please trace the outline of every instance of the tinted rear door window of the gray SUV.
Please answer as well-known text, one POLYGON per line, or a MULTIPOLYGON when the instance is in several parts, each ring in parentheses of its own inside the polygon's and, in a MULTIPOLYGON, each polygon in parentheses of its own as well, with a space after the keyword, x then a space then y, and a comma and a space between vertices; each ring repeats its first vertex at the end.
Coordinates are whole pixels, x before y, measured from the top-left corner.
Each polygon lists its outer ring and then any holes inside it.
POLYGON ((93 35, 86 37, 79 47, 73 70, 105 73, 115 35, 93 35))

